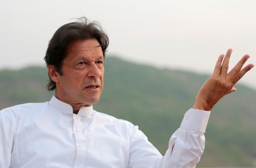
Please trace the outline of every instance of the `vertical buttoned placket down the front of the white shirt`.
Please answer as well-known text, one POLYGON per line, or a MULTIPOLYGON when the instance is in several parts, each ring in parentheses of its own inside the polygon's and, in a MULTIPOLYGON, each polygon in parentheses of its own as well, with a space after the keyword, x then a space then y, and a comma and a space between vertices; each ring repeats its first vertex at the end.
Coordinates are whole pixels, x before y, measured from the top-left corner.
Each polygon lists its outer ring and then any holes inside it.
POLYGON ((86 149, 85 149, 85 136, 83 135, 83 123, 81 122, 81 117, 79 115, 73 114, 73 132, 75 135, 76 141, 76 157, 74 168, 85 167, 85 157, 86 157, 86 149))

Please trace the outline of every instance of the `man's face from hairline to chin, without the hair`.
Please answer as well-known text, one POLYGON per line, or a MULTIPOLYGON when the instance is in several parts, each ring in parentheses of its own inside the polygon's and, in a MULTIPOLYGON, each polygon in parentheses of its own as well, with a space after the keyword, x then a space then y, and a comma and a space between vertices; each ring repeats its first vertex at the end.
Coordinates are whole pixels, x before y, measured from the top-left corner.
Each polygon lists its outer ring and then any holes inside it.
POLYGON ((57 95, 70 104, 97 103, 103 89, 104 57, 96 39, 74 41, 62 62, 57 95))

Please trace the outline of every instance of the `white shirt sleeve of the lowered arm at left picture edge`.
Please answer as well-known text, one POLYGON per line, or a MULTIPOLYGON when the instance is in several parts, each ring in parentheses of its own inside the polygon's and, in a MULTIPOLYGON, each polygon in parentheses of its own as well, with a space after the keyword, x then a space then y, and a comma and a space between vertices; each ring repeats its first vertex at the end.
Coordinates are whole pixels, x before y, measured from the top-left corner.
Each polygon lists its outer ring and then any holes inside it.
POLYGON ((8 109, 0 111, 0 167, 9 168, 13 141, 17 129, 17 120, 8 109))

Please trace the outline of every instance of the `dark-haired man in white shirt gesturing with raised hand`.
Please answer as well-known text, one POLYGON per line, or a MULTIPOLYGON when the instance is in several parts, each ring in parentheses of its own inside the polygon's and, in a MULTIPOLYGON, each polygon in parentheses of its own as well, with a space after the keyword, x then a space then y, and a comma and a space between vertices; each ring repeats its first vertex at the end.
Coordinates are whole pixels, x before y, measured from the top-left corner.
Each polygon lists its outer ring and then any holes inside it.
POLYGON ((220 55, 162 156, 138 126, 94 111, 103 89, 109 39, 86 18, 60 27, 45 56, 49 102, 27 103, 0 112, 1 168, 181 168, 195 167, 204 150, 212 107, 254 65, 245 55, 228 73, 232 50, 220 55), (223 60, 223 63, 222 63, 223 60), (242 69, 242 70, 241 70, 242 69))

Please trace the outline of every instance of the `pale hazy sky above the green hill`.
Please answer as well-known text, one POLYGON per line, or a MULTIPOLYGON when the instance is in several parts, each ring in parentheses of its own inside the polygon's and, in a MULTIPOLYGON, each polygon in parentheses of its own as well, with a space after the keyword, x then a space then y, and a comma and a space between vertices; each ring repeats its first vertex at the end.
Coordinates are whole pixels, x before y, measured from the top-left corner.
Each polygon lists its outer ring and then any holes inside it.
MULTIPOLYGON (((255 0, 2 0, 0 69, 45 66, 54 32, 79 17, 101 23, 107 56, 212 74, 232 48, 230 69, 245 54, 256 65, 255 8, 255 0)), ((238 83, 256 89, 256 67, 238 83)))

